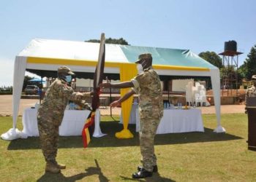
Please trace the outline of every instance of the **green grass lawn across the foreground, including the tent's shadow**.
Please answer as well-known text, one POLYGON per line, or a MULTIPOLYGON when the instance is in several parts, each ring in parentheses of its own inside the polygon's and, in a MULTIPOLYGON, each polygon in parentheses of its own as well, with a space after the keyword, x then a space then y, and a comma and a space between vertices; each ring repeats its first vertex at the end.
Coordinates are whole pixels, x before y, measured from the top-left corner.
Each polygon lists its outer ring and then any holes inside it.
MULTIPOLYGON (((115 117, 118 120, 118 117, 115 117)), ((159 173, 140 181, 256 181, 256 151, 247 150, 246 114, 222 114, 226 133, 215 133, 214 114, 203 115, 205 132, 157 135, 155 153, 159 173)), ((0 117, 0 134, 12 127, 11 117, 0 117)), ((21 118, 18 128, 22 130, 21 118)), ((140 165, 135 125, 132 139, 117 139, 122 125, 104 116, 102 138, 92 138, 83 149, 80 137, 61 137, 57 160, 66 170, 44 172, 39 139, 0 140, 0 181, 133 181, 140 165)))

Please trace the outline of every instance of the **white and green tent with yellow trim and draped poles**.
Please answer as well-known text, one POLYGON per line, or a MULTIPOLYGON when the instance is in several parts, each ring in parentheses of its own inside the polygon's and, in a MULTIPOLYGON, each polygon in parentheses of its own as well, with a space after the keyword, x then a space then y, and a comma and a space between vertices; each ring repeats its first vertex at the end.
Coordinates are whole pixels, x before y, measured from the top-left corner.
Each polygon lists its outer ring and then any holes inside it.
MULTIPOLYGON (((127 81, 137 74, 138 55, 150 52, 153 67, 160 76, 211 76, 214 104, 217 113, 217 132, 220 125, 219 69, 190 50, 157 47, 137 47, 118 44, 105 45, 105 75, 109 79, 127 81)), ((20 95, 25 71, 39 76, 56 76, 59 66, 69 66, 78 78, 93 78, 99 55, 99 43, 33 39, 15 58, 13 85, 13 127, 16 127, 20 95)), ((124 95, 127 90, 121 90, 124 95)), ((128 125, 132 98, 122 103, 124 128, 128 125)))

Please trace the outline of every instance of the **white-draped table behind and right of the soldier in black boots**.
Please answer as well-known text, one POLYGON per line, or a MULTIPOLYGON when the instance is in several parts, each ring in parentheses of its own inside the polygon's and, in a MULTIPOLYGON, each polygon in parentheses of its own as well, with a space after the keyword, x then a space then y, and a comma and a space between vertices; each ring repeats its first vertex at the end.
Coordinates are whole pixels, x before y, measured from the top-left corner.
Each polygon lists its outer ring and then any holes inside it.
MULTIPOLYGON (((140 117, 136 119, 136 132, 140 130, 140 117)), ((157 128, 157 134, 176 132, 204 132, 201 110, 165 109, 157 128)))

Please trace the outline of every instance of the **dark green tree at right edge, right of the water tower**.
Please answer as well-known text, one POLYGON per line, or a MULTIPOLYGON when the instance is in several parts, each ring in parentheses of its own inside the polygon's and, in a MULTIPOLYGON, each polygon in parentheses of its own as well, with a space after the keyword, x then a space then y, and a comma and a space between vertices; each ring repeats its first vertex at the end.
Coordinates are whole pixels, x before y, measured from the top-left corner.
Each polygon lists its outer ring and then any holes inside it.
POLYGON ((251 52, 247 55, 244 64, 239 67, 241 73, 246 79, 252 79, 252 75, 256 74, 256 44, 252 47, 251 52))

